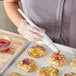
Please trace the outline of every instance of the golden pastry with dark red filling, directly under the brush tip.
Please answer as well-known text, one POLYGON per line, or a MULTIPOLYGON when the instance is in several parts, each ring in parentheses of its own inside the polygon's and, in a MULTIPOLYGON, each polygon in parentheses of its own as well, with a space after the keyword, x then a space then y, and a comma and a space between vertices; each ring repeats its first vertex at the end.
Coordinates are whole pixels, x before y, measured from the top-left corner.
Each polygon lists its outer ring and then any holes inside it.
POLYGON ((53 53, 49 58, 48 58, 48 63, 55 65, 55 66, 62 66, 66 63, 66 57, 64 55, 56 55, 53 53))

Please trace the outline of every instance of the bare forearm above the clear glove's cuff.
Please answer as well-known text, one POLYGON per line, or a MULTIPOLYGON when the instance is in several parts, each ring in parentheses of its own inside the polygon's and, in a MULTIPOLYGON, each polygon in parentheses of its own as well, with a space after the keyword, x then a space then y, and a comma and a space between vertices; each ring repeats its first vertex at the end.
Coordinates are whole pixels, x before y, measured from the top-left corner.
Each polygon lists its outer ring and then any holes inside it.
POLYGON ((18 27, 20 21, 24 19, 18 12, 18 3, 4 1, 4 7, 10 20, 18 27))

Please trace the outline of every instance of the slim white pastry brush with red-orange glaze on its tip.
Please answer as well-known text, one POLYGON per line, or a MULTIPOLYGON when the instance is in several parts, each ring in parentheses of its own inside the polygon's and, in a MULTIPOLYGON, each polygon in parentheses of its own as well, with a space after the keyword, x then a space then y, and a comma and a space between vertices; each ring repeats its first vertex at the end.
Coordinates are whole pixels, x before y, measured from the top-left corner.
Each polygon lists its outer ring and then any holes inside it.
MULTIPOLYGON (((39 28, 37 25, 35 25, 24 13, 23 11, 19 8, 18 9, 19 13, 26 19, 26 21, 33 27, 39 28)), ((40 28, 39 28, 40 29, 40 28)), ((54 51, 56 54, 59 54, 60 51, 59 49, 55 46, 55 44, 53 43, 53 41, 45 34, 42 33, 41 34, 44 38, 43 38, 43 42, 45 42, 45 44, 47 44, 52 51, 54 51)))

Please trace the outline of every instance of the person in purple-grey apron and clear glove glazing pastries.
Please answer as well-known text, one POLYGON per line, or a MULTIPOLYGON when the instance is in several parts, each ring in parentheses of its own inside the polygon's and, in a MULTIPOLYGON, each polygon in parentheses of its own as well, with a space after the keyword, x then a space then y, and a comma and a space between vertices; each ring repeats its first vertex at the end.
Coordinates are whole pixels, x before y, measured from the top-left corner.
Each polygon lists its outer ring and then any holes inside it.
POLYGON ((54 42, 76 48, 76 0, 21 0, 24 13, 41 29, 26 22, 18 1, 4 0, 4 8, 24 38, 41 41, 46 32, 54 42))

